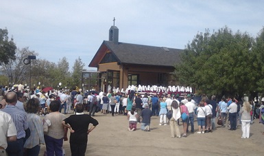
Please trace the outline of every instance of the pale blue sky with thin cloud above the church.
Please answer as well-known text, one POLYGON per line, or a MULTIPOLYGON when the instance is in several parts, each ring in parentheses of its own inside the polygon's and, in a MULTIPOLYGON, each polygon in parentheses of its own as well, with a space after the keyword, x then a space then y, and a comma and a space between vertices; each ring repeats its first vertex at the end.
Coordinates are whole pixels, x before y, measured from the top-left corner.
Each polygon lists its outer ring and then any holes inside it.
POLYGON ((70 69, 79 56, 86 69, 113 25, 119 42, 184 49, 197 32, 225 25, 256 36, 263 28, 264 1, 1 0, 0 28, 19 48, 70 69))

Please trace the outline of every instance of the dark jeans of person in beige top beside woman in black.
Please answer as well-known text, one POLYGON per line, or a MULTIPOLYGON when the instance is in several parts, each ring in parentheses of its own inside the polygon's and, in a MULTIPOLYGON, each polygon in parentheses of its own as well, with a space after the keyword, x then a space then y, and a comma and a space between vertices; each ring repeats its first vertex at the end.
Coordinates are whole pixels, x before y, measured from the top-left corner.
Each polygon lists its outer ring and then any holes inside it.
POLYGON ((44 139, 46 144, 47 156, 53 156, 54 153, 56 155, 62 155, 63 138, 57 140, 48 135, 44 135, 44 139))

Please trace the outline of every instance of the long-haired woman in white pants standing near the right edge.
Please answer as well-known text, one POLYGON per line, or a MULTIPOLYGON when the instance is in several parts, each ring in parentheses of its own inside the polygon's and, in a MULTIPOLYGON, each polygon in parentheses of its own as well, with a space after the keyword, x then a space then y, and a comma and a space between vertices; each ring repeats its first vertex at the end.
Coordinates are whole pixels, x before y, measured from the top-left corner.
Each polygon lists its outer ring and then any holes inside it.
POLYGON ((252 110, 250 106, 250 102, 243 102, 243 107, 239 112, 241 114, 241 129, 242 129, 242 137, 241 138, 249 138, 250 137, 250 122, 251 116, 250 111, 252 110))

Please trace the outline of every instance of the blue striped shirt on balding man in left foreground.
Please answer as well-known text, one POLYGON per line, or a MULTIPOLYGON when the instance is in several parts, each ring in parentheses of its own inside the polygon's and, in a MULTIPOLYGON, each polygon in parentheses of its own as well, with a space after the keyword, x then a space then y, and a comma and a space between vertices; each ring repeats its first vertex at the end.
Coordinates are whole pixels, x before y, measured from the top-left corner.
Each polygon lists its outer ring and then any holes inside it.
POLYGON ((25 137, 25 130, 28 128, 27 115, 25 111, 21 111, 11 104, 6 105, 5 109, 2 109, 2 111, 11 115, 14 125, 16 126, 17 139, 25 137))

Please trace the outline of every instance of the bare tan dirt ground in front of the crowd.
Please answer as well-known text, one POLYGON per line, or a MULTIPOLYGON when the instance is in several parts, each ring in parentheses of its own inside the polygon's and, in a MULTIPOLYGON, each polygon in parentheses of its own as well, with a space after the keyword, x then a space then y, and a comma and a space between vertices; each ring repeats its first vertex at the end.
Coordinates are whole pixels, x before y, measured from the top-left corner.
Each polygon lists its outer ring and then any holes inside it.
MULTIPOLYGON (((159 126, 158 116, 152 117, 149 132, 141 131, 141 124, 137 124, 136 131, 128 131, 124 115, 97 113, 94 118, 99 125, 88 135, 86 155, 263 155, 264 126, 259 120, 250 125, 250 138, 241 139, 240 125, 236 131, 217 125, 213 133, 197 134, 195 120, 195 133, 171 138, 170 126, 159 126)), ((182 124, 180 131, 183 132, 182 124)), ((63 148, 67 156, 71 155, 69 141, 63 148)), ((45 145, 41 145, 40 155, 44 151, 45 145)))

